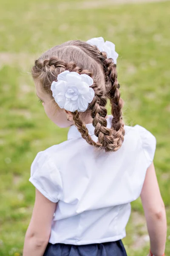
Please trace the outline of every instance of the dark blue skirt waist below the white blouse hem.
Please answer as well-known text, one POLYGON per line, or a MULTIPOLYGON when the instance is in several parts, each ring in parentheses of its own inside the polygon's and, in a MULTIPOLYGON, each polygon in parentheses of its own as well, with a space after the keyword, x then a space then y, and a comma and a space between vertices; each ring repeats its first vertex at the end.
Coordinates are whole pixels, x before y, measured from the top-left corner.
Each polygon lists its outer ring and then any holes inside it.
POLYGON ((101 244, 50 244, 43 256, 127 256, 121 240, 101 244))

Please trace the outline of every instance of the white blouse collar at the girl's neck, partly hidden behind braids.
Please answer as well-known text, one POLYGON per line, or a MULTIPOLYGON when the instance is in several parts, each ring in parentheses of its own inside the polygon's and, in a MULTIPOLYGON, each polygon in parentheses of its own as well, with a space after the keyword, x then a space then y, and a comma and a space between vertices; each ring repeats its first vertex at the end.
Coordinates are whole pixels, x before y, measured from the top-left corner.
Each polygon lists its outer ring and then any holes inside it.
MULTIPOLYGON (((106 118, 108 125, 108 128, 111 128, 111 121, 112 121, 113 116, 108 116, 108 118, 106 118)), ((88 128, 88 134, 89 135, 94 135, 94 126, 93 124, 87 124, 86 127, 88 128)), ((71 125, 69 131, 68 131, 68 140, 71 139, 76 139, 76 138, 81 138, 82 134, 78 131, 77 127, 75 125, 71 125)))

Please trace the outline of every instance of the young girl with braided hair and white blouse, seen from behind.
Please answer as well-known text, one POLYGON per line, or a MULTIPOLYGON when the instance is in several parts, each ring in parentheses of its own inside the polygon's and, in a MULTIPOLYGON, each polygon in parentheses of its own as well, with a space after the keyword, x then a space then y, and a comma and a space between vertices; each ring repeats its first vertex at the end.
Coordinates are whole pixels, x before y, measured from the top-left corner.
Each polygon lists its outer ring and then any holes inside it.
POLYGON ((31 165, 36 198, 23 256, 126 256, 121 239, 130 202, 139 196, 148 255, 164 255, 156 138, 123 122, 117 57, 113 43, 93 38, 65 42, 35 61, 32 76, 45 113, 70 129, 68 140, 40 151, 31 165))

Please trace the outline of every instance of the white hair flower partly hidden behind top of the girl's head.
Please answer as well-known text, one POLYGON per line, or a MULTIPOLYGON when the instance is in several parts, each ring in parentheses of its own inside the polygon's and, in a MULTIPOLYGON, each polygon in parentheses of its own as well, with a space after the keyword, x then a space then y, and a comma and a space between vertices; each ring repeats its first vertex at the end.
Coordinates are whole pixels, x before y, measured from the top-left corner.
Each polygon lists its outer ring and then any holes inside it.
POLYGON ((91 38, 87 41, 88 44, 96 45, 99 48, 100 52, 106 52, 108 58, 112 58, 113 62, 117 63, 117 58, 119 54, 115 51, 115 44, 110 41, 105 41, 104 38, 91 38))

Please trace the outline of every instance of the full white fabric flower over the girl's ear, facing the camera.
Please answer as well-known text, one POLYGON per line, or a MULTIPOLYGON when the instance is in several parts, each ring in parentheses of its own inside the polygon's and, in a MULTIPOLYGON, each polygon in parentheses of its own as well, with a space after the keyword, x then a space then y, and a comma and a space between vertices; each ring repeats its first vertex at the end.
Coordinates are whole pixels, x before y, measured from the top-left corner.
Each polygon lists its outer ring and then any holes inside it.
POLYGON ((52 82, 51 91, 60 108, 84 112, 94 99, 94 90, 90 87, 93 83, 86 74, 65 70, 57 76, 57 81, 52 82))

